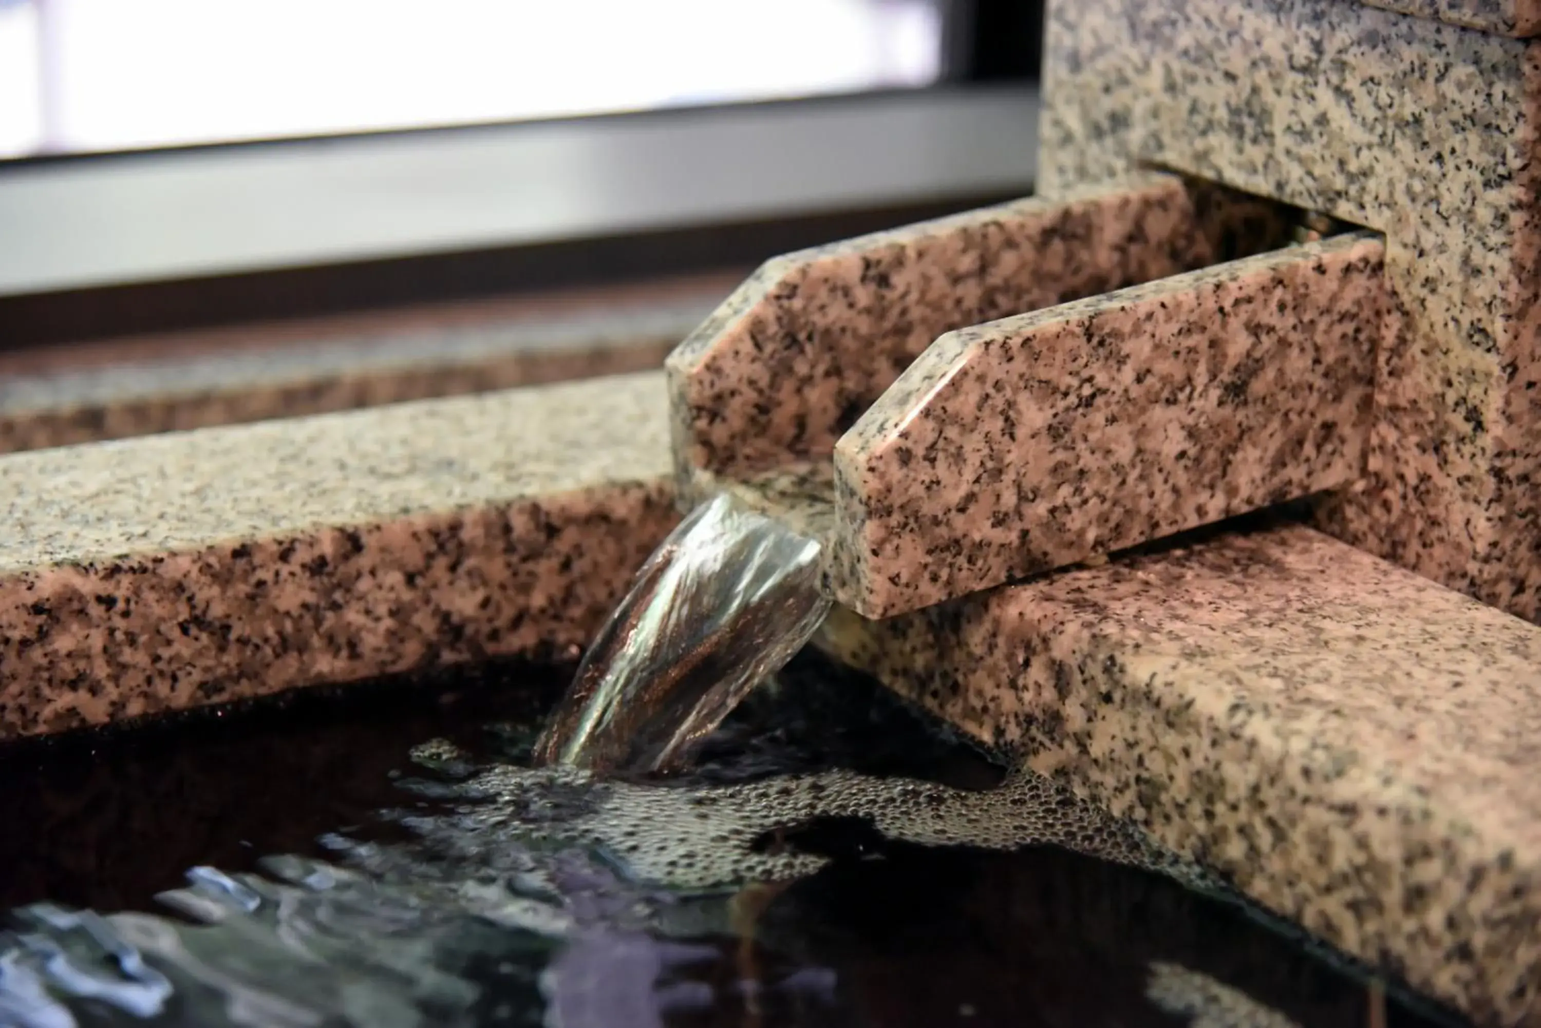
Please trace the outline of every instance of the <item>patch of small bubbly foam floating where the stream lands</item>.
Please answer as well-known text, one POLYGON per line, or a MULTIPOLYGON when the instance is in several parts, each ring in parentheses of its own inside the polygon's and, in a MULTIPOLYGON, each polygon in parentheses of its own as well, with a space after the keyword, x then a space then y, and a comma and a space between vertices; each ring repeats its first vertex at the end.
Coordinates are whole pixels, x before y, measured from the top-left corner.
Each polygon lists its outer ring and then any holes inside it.
POLYGON ((1031 771, 1014 774, 999 789, 975 792, 849 771, 660 788, 598 781, 569 768, 499 766, 467 781, 465 789, 492 801, 433 820, 431 834, 459 837, 468 849, 496 845, 504 832, 599 846, 616 854, 636 880, 672 889, 723 889, 814 874, 828 857, 777 846, 775 837, 840 818, 857 818, 888 840, 923 846, 1063 846, 1168 874, 1193 888, 1217 888, 1197 865, 1162 851, 1133 825, 1031 771))

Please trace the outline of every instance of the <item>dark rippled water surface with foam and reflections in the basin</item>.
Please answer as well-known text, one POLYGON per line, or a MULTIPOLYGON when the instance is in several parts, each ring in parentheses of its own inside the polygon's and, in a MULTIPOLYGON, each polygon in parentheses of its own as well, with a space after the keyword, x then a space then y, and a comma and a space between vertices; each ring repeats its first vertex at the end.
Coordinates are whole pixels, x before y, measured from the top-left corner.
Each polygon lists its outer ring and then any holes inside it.
POLYGON ((1367 1023, 1193 868, 812 658, 667 780, 529 768, 542 694, 484 670, 14 755, 0 1025, 1367 1023))

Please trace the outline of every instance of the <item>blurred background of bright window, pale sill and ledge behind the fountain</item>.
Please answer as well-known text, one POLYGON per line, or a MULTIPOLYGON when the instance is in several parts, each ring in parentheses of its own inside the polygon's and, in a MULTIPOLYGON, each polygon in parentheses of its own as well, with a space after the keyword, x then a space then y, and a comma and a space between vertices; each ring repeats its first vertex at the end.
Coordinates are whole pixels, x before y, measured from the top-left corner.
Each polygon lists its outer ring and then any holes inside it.
POLYGON ((0 450, 653 367, 766 257, 1031 193, 1042 22, 0 0, 0 450))

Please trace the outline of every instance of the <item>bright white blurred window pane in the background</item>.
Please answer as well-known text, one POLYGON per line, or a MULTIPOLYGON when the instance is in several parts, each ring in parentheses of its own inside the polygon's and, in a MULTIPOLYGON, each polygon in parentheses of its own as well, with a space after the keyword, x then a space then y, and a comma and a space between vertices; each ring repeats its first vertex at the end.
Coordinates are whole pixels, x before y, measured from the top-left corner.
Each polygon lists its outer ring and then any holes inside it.
POLYGON ((0 0, 0 157, 926 86, 946 0, 0 0))

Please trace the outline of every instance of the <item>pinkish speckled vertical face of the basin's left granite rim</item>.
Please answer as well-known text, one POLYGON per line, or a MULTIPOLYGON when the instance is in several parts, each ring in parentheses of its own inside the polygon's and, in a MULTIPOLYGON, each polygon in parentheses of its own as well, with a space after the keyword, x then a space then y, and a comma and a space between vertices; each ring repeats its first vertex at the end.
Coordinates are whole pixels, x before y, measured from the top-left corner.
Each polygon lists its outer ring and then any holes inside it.
POLYGON ((575 658, 676 519, 656 479, 12 575, 0 740, 492 657, 575 658), (284 572, 288 587, 259 601, 284 572))

